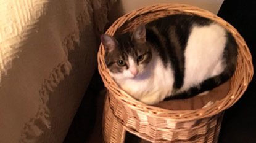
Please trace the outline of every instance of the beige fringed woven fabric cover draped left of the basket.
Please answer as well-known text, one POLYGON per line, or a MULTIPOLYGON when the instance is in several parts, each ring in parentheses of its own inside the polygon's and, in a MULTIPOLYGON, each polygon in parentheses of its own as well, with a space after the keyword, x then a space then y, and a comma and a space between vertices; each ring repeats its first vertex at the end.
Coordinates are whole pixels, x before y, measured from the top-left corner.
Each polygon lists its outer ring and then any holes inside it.
POLYGON ((62 142, 115 0, 0 2, 0 142, 62 142))

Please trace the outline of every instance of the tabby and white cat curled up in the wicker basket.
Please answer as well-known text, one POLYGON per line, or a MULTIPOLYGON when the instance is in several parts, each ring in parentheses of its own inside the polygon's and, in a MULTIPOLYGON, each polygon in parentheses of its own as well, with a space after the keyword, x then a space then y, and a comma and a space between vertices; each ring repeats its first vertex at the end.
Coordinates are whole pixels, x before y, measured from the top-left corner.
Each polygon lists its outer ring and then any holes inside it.
POLYGON ((196 15, 163 17, 115 37, 103 34, 101 42, 115 82, 146 104, 212 90, 236 69, 234 37, 196 15))

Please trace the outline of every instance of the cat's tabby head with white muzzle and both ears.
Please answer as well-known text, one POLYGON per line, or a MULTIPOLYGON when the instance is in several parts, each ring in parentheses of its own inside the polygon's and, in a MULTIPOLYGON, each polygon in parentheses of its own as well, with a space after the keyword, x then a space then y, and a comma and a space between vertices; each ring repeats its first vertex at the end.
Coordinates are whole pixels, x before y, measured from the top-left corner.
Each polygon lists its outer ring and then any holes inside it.
POLYGON ((102 34, 101 42, 105 49, 105 64, 114 79, 134 79, 144 74, 152 58, 144 25, 116 38, 102 34))

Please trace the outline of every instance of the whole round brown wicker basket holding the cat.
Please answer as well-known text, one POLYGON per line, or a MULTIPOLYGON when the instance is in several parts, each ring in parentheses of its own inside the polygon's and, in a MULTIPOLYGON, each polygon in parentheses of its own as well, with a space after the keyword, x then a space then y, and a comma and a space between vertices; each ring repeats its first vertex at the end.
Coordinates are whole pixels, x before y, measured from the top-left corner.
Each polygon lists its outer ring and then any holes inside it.
POLYGON ((223 111, 231 107, 252 80, 252 57, 236 29, 215 14, 183 4, 156 4, 134 10, 120 17, 107 34, 131 31, 141 23, 173 14, 196 14, 210 18, 228 29, 239 45, 237 69, 231 79, 231 90, 212 106, 196 110, 167 110, 136 101, 110 77, 104 63, 104 48, 98 53, 99 72, 109 90, 105 99, 102 131, 106 143, 123 143, 126 131, 150 142, 217 142, 223 111))

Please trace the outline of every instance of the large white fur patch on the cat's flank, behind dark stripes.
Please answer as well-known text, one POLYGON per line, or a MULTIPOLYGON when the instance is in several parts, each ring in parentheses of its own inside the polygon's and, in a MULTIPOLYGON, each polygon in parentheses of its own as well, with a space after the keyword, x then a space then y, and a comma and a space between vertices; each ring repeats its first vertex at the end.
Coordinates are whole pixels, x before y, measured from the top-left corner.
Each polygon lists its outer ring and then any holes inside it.
POLYGON ((223 71, 225 67, 221 59, 226 44, 225 35, 225 29, 217 23, 192 28, 184 53, 184 85, 180 91, 199 85, 223 71))

